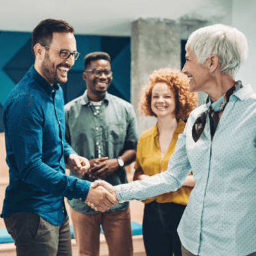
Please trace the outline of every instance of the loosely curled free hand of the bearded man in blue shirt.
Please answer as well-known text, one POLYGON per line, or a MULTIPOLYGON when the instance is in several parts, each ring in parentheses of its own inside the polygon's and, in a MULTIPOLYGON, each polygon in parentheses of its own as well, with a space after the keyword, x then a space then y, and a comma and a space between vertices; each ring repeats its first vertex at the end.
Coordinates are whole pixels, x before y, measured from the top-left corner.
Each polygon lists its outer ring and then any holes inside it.
POLYGON ((89 160, 76 154, 70 154, 66 164, 67 167, 75 171, 77 175, 84 175, 90 168, 89 160))

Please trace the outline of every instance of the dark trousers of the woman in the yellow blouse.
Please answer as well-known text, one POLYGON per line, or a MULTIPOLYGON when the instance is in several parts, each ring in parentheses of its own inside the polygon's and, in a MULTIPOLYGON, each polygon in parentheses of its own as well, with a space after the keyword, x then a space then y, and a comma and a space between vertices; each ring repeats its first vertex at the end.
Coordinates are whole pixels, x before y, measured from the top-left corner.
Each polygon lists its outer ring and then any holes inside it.
POLYGON ((177 228, 185 205, 147 203, 144 207, 143 240, 147 256, 182 256, 177 228))

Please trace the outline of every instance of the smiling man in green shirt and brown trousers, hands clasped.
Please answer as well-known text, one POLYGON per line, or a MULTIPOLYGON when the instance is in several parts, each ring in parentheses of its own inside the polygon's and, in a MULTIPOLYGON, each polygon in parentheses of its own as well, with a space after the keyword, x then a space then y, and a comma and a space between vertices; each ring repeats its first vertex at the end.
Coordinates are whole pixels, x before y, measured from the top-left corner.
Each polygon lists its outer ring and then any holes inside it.
MULTIPOLYGON (((83 80, 87 90, 65 105, 65 134, 78 154, 89 159, 90 169, 80 178, 117 185, 127 183, 124 166, 135 160, 139 129, 132 105, 107 92, 112 73, 107 53, 85 56, 83 80)), ((74 171, 71 175, 78 177, 74 171)), ((76 199, 69 200, 69 205, 80 256, 99 255, 100 225, 109 255, 133 255, 128 203, 114 205, 104 213, 76 199)))

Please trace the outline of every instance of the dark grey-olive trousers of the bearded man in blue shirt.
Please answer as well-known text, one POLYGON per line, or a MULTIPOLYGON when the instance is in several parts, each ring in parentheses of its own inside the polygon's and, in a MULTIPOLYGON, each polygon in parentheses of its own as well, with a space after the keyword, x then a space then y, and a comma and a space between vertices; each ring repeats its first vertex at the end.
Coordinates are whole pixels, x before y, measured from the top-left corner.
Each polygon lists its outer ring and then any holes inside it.
POLYGON ((15 212, 4 223, 17 256, 72 256, 69 221, 55 226, 38 215, 15 212))

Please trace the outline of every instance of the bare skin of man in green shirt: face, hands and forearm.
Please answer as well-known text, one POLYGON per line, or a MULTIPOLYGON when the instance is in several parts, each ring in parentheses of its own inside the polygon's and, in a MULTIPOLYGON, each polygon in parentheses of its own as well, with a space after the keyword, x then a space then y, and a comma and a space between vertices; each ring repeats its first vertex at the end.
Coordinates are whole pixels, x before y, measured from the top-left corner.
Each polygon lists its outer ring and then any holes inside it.
MULTIPOLYGON (((108 60, 92 60, 86 70, 111 70, 108 60)), ((91 72, 83 72, 83 80, 87 83, 87 96, 91 101, 101 101, 105 98, 108 87, 112 82, 112 76, 105 76, 104 73, 97 77, 91 72)), ((124 161, 124 166, 131 164, 136 158, 136 151, 128 149, 119 156, 124 161)), ((90 159, 90 169, 87 171, 92 178, 106 178, 112 175, 119 168, 117 158, 108 157, 90 159)))

